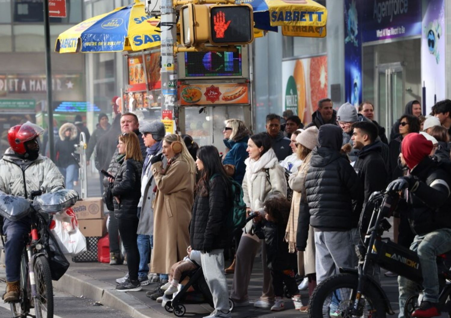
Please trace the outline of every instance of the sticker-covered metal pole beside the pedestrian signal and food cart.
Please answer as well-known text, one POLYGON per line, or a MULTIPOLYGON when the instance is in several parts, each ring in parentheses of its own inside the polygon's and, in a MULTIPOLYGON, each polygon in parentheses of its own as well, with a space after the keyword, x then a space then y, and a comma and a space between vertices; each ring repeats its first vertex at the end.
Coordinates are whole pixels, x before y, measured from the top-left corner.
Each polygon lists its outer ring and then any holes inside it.
POLYGON ((172 0, 161 0, 161 117, 164 110, 173 112, 175 133, 178 131, 179 118, 177 65, 174 57, 174 45, 176 44, 176 15, 172 0))

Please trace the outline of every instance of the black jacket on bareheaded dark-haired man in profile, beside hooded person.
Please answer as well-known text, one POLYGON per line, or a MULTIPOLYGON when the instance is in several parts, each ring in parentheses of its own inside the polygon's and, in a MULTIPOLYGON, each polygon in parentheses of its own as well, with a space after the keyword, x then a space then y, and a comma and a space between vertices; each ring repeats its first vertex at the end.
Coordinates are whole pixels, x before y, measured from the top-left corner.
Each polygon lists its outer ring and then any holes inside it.
POLYGON ((359 158, 354 164, 354 170, 364 185, 365 203, 371 193, 382 191, 387 185, 388 172, 381 153, 382 142, 377 140, 360 150, 359 158))

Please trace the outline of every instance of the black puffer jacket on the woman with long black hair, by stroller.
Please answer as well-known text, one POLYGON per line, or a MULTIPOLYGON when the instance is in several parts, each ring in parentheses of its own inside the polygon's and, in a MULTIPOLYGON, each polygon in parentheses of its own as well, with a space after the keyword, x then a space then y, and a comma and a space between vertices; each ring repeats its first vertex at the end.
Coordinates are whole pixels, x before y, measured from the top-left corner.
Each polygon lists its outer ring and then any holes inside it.
POLYGON ((220 177, 209 182, 208 196, 194 199, 189 241, 196 251, 226 248, 229 241, 227 217, 231 208, 230 189, 220 177))

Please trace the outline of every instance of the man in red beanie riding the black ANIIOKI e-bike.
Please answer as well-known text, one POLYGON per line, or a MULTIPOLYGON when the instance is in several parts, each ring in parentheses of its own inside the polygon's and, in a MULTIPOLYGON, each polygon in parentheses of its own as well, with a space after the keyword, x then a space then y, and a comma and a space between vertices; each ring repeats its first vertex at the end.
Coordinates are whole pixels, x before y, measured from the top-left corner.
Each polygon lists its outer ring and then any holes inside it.
MULTIPOLYGON (((408 190, 407 217, 415 233, 410 250, 417 252, 423 274, 423 300, 412 317, 440 316, 436 257, 451 250, 451 174, 446 164, 429 157, 432 149, 432 142, 422 134, 406 135, 400 159, 410 175, 392 181, 387 187, 387 191, 408 190)), ((398 277, 398 283, 399 318, 404 318, 405 302, 417 292, 416 283, 403 276, 398 277)))

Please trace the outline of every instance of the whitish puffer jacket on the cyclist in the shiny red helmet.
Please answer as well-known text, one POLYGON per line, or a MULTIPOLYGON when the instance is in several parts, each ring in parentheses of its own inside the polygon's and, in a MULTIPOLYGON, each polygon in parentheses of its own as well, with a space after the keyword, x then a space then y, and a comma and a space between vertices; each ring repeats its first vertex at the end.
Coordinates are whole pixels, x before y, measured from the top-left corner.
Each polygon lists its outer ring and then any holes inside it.
POLYGON ((23 160, 8 148, 0 159, 0 191, 28 197, 32 191, 49 193, 60 189, 64 189, 63 175, 49 158, 39 155, 34 161, 23 160))

